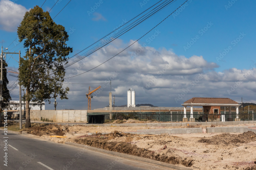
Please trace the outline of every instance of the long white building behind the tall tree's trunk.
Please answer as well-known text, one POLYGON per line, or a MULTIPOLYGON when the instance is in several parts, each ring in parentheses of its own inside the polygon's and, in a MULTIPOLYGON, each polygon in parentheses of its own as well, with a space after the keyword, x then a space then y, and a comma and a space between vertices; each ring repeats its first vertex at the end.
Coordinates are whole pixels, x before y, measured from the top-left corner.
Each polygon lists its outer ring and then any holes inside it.
MULTIPOLYGON (((19 110, 19 100, 10 100, 10 103, 8 103, 9 106, 12 107, 12 110, 19 110)), ((26 105, 26 102, 25 102, 26 105)), ((22 110, 24 110, 24 101, 21 103, 22 110)), ((36 103, 36 102, 31 102, 29 103, 30 110, 45 110, 45 102, 41 103, 36 103), (33 106, 35 104, 35 106, 33 106)))

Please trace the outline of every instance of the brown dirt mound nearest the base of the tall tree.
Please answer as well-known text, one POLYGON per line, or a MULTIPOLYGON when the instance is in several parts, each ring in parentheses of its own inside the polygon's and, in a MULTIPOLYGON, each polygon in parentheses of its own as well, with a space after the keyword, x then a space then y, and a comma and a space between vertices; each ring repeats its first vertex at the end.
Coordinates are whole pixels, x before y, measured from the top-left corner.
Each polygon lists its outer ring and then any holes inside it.
POLYGON ((27 129, 27 132, 32 135, 59 135, 63 136, 68 132, 67 126, 61 126, 58 124, 37 124, 27 129))

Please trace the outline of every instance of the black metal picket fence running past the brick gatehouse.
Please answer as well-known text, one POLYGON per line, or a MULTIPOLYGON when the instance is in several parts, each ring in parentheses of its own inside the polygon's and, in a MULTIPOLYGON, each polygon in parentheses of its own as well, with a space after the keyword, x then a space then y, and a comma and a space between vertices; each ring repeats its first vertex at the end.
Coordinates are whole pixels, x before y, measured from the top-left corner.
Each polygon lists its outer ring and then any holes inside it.
MULTIPOLYGON (((110 117, 105 117, 109 121, 110 117)), ((159 122, 226 122, 226 121, 256 121, 256 114, 253 111, 221 111, 219 114, 207 114, 202 112, 112 112, 112 120, 138 120, 138 121, 159 121, 159 122)))

